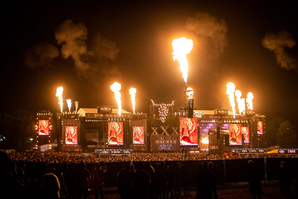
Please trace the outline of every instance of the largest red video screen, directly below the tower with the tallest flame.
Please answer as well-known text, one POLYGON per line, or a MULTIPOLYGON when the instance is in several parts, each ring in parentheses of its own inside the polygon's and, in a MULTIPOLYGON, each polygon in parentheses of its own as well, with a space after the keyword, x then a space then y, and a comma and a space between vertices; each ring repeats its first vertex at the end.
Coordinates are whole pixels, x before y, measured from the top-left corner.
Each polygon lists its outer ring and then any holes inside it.
POLYGON ((180 147, 198 146, 198 118, 179 118, 180 147))

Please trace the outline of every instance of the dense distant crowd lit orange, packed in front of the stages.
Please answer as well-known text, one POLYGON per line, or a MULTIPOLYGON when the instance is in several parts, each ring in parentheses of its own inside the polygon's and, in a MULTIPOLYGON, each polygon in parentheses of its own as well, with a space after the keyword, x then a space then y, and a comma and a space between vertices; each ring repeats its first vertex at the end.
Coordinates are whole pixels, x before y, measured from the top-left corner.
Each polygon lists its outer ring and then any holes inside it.
MULTIPOLYGON (((105 162, 123 162, 123 161, 180 161, 182 158, 181 152, 134 152, 133 155, 112 156, 100 155, 95 156, 89 153, 84 156, 82 152, 14 152, 9 153, 9 158, 13 161, 24 162, 47 162, 47 163, 98 163, 105 162)), ((294 157, 293 155, 277 155, 267 153, 242 154, 242 155, 214 155, 206 152, 189 153, 189 160, 219 160, 219 159, 239 159, 239 158, 264 158, 264 157, 294 157)))

